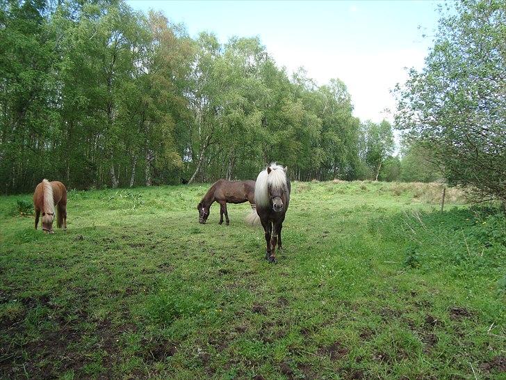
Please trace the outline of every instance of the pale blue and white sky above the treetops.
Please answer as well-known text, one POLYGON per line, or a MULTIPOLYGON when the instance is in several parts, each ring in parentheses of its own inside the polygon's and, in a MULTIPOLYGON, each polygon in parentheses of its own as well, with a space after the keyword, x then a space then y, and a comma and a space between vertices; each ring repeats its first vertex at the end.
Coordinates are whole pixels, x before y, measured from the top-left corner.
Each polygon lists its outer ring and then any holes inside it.
POLYGON ((277 65, 307 70, 318 85, 341 79, 360 120, 392 120, 390 90, 423 68, 432 45, 436 1, 127 1, 162 10, 190 36, 213 32, 220 42, 259 36, 277 65), (423 37, 423 34, 428 37, 423 37))

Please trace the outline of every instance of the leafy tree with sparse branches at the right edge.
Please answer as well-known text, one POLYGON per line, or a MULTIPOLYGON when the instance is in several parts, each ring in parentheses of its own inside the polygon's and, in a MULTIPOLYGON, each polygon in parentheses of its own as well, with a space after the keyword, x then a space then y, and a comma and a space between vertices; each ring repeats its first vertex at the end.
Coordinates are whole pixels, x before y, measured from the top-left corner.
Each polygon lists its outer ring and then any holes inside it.
POLYGON ((506 3, 461 0, 441 15, 421 72, 398 88, 396 125, 450 184, 506 199, 506 3))

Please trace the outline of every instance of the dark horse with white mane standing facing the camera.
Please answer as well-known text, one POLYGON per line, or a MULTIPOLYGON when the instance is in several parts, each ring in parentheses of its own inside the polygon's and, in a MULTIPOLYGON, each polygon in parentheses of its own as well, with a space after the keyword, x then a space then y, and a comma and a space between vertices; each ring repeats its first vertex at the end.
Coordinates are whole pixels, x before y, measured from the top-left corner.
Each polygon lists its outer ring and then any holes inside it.
POLYGON ((286 168, 276 163, 270 164, 256 177, 256 212, 266 232, 266 260, 269 262, 276 262, 276 244, 281 249, 281 228, 290 203, 290 191, 286 168))

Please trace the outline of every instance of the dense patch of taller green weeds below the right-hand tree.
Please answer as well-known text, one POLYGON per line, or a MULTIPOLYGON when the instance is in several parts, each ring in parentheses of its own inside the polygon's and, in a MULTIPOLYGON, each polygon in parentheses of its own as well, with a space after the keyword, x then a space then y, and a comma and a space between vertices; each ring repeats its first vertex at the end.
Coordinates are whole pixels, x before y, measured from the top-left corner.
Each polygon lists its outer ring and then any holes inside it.
MULTIPOLYGON (((404 212, 380 222, 378 232, 405 242, 405 264, 421 270, 444 267, 459 276, 487 271, 503 276, 506 215, 498 207, 404 212)), ((504 280, 503 280, 504 282, 504 280)))

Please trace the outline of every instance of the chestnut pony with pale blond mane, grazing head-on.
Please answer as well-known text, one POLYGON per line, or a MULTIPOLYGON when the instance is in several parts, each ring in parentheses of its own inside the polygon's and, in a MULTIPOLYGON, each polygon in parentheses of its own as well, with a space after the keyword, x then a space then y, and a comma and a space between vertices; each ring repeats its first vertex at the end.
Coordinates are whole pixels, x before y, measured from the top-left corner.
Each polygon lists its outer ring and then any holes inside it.
POLYGON ((49 182, 42 180, 35 187, 33 193, 33 205, 35 206, 35 230, 39 223, 42 211, 42 230, 53 234, 54 206, 58 207, 58 228, 67 229, 67 188, 58 181, 49 182))

